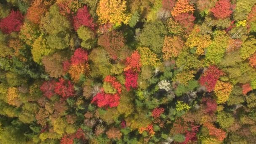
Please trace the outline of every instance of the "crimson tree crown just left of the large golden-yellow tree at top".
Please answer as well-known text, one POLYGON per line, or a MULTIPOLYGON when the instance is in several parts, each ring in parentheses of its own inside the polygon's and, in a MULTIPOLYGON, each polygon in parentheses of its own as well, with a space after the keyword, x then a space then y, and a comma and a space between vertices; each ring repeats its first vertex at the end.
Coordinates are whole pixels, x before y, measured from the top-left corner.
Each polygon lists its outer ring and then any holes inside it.
POLYGON ((77 14, 73 17, 73 22, 75 30, 81 26, 89 27, 92 30, 96 27, 86 5, 77 11, 77 14))

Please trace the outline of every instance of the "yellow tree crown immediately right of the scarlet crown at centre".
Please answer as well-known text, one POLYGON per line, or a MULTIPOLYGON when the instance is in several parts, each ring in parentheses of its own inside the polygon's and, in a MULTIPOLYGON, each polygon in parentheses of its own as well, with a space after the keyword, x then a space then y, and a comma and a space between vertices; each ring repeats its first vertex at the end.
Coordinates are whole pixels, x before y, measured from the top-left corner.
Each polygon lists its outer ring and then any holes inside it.
POLYGON ((139 47, 138 51, 140 53, 140 62, 142 65, 148 65, 148 66, 152 66, 154 68, 157 68, 160 66, 161 62, 160 60, 157 58, 157 55, 150 51, 149 48, 147 47, 139 47))

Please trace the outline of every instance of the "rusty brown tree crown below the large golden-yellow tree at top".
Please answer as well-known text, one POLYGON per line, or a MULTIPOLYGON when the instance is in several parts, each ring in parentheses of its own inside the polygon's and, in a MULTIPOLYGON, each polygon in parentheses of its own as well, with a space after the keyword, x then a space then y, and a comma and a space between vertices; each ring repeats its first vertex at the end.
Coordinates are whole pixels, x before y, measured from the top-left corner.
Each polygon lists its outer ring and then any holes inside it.
POLYGON ((105 48, 112 59, 117 60, 125 45, 125 39, 122 32, 111 31, 101 35, 98 44, 105 48))

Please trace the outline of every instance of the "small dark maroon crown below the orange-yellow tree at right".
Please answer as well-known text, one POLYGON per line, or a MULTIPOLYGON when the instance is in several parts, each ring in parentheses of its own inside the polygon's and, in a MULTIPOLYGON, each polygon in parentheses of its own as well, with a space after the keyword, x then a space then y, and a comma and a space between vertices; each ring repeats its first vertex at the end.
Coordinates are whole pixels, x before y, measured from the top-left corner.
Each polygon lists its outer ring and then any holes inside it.
POLYGON ((213 114, 217 110, 217 103, 214 99, 210 97, 203 97, 202 102, 205 104, 205 108, 203 110, 204 113, 213 114))

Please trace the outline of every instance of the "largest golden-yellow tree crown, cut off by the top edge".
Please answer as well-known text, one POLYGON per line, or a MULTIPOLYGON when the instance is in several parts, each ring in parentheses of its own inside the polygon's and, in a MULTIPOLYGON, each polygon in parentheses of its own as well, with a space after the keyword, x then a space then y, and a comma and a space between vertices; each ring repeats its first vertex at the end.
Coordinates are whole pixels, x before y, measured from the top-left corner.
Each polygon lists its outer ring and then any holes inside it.
POLYGON ((96 13, 101 24, 128 24, 131 19, 131 15, 126 12, 126 1, 123 0, 100 0, 96 13))

